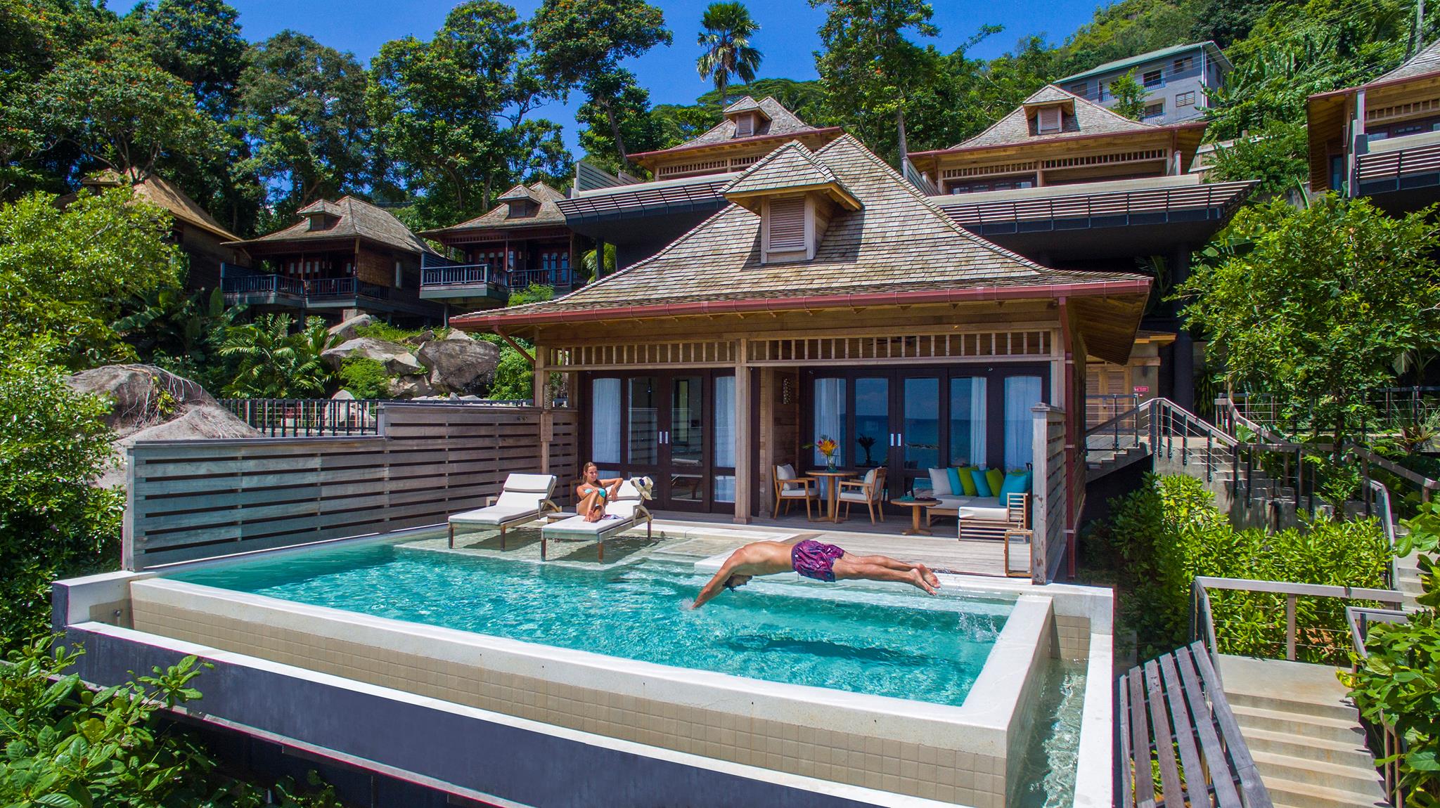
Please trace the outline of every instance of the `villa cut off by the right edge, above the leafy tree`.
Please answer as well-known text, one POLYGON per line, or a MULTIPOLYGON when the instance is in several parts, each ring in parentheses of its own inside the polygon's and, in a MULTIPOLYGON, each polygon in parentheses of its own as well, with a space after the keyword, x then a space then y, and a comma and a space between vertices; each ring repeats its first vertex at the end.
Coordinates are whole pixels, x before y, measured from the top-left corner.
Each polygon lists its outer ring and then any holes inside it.
POLYGON ((1440 201, 1440 40, 1378 79, 1312 95, 1310 190, 1391 213, 1440 201))

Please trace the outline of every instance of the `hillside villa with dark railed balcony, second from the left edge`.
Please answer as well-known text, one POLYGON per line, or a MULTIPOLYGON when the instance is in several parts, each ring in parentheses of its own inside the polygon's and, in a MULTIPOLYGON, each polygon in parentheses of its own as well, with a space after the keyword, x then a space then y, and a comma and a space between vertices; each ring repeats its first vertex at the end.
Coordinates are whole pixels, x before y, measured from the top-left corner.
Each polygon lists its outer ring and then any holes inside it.
POLYGON ((420 259, 435 250, 395 214, 347 196, 318 200, 295 216, 289 227, 228 243, 255 262, 220 269, 228 303, 331 321, 359 313, 441 319, 442 308, 419 295, 420 259))

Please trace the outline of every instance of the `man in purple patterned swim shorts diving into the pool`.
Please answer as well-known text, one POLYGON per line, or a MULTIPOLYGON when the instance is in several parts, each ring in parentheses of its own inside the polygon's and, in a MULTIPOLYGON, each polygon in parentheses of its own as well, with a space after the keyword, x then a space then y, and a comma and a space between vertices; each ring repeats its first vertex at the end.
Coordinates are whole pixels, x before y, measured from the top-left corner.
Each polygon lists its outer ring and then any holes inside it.
POLYGON ((912 584, 935 594, 940 579, 923 564, 906 564, 884 555, 851 555, 835 545, 805 539, 788 545, 785 542, 750 542, 730 554, 714 578, 690 608, 700 608, 724 589, 744 587, 756 575, 779 575, 799 572, 816 581, 897 581, 912 584))

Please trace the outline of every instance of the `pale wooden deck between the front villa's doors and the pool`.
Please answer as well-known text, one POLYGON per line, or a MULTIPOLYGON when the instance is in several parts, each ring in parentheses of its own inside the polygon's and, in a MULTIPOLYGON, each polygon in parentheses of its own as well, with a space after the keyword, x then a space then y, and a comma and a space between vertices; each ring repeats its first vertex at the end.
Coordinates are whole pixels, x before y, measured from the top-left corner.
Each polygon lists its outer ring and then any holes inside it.
MULTIPOLYGON (((674 561, 700 561, 727 554, 744 543, 769 541, 816 539, 845 548, 855 555, 888 555, 901 561, 924 564, 937 572, 958 575, 1004 577, 1004 548, 995 541, 959 541, 955 535, 955 520, 942 519, 935 525, 935 536, 903 536, 900 531, 910 520, 886 519, 870 525, 867 518, 832 523, 809 522, 804 516, 782 519, 756 519, 749 525, 736 525, 723 513, 677 513, 657 512, 652 538, 645 539, 645 529, 628 531, 605 542, 605 565, 625 564, 641 556, 668 558, 674 561)), ((422 539, 418 546, 446 549, 441 532, 436 539, 422 539)), ((540 531, 536 528, 511 529, 505 546, 500 546, 497 531, 475 531, 458 533, 455 552, 495 555, 517 559, 540 559, 540 531)), ((1030 556, 1015 545, 1011 551, 1012 568, 1028 565, 1030 556)), ((553 564, 596 565, 595 542, 550 542, 553 564)), ((1015 578, 1014 581, 1028 581, 1015 578)))

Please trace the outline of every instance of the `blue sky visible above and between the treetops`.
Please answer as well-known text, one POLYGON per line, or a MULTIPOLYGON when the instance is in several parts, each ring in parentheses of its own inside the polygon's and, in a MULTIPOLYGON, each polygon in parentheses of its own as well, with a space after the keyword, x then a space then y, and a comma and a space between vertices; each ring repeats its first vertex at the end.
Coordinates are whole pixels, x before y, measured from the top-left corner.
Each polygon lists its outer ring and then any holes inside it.
MULTIPOLYGON (((655 0, 652 0, 655 1, 655 0)), ((284 29, 308 33, 320 42, 350 50, 369 63, 380 46, 392 39, 413 35, 429 39, 445 22, 454 3, 433 0, 350 0, 343 6, 327 3, 294 3, 294 0, 230 0, 240 12, 245 37, 264 40, 284 29)), ((710 0, 660 0, 665 23, 674 32, 670 47, 657 47, 634 59, 626 66, 635 72, 642 86, 649 89, 654 104, 693 104, 710 85, 696 73, 700 46, 696 36, 700 16, 710 0)), ((540 0, 514 0, 523 19, 530 17, 540 0)), ((814 79, 814 50, 819 46, 816 30, 824 20, 821 9, 811 9, 805 0, 750 1, 750 14, 760 23, 756 47, 765 53, 762 78, 814 79)), ((940 36, 935 45, 952 50, 982 24, 1002 24, 1005 30, 976 46, 973 56, 998 56, 1009 50, 1022 36, 1044 33, 1060 42, 1080 24, 1090 20, 1096 0, 1005 0, 1002 3, 956 3, 932 0, 935 22, 940 36)), ((576 96, 566 105, 550 105, 540 115, 557 121, 566 129, 564 139, 576 148, 576 96)))

